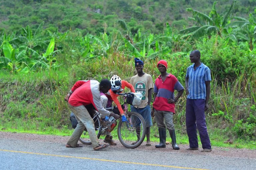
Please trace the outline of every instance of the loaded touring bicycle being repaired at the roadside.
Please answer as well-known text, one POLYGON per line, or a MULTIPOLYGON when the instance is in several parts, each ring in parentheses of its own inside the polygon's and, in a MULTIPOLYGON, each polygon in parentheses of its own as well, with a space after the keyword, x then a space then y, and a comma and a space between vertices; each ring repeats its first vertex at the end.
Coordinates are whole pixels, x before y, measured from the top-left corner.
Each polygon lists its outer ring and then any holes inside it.
MULTIPOLYGON (((146 123, 143 119, 143 117, 137 113, 137 112, 128 112, 128 107, 125 99, 129 96, 127 93, 118 93, 118 95, 123 96, 124 104, 122 105, 122 108, 124 110, 124 115, 126 116, 126 119, 128 122, 122 122, 121 120, 118 123, 117 127, 117 135, 120 143, 126 147, 126 148, 136 148, 143 142, 145 135, 146 135, 146 123), (138 130, 140 129, 140 130, 138 130)), ((114 109, 117 109, 117 106, 115 107, 109 107, 106 108, 108 111, 113 111, 114 109)), ((93 110, 93 121, 95 126, 95 131, 97 134, 97 137, 105 136, 107 133, 107 129, 110 127, 110 125, 115 121, 113 117, 110 117, 109 120, 111 122, 109 123, 109 126, 104 127, 101 123, 101 114, 97 112, 96 110, 93 110)), ((115 112, 114 112, 115 113, 115 112)), ((85 129, 81 137, 79 138, 79 141, 83 144, 91 144, 89 134, 87 130, 85 129)))

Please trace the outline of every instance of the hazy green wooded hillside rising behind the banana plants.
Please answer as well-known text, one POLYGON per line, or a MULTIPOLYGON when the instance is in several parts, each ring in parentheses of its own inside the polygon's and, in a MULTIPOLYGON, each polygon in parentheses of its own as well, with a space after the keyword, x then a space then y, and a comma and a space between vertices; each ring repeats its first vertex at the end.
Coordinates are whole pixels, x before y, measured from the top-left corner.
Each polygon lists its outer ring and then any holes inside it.
MULTIPOLYGON (((211 11, 212 0, 0 0, 0 30, 15 31, 30 25, 32 30, 44 22, 44 29, 51 32, 76 30, 82 35, 108 32, 116 27, 116 20, 124 20, 132 34, 142 32, 161 33, 165 23, 182 29, 191 26, 186 8, 204 14, 211 11)), ((216 10, 223 15, 232 0, 218 1, 216 10)), ((254 11, 256 1, 237 0, 234 16, 245 17, 254 11)))

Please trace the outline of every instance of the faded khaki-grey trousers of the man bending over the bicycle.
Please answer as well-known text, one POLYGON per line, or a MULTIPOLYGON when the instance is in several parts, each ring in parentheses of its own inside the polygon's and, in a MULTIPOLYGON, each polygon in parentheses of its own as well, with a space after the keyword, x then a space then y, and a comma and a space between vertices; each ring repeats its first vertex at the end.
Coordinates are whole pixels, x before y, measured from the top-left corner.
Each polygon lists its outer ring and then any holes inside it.
POLYGON ((93 148, 99 146, 99 140, 95 132, 94 122, 87 109, 83 105, 75 107, 69 104, 69 107, 74 113, 78 124, 67 143, 72 147, 76 147, 81 134, 86 128, 89 133, 93 148))

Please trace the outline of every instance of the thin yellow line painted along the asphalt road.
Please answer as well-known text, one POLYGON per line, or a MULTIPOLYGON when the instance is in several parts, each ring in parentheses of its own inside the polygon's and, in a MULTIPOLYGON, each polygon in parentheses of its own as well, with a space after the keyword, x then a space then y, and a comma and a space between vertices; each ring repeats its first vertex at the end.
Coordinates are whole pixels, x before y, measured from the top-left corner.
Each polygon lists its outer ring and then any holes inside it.
POLYGON ((86 157, 77 157, 77 156, 54 155, 54 154, 47 154, 47 153, 34 153, 34 152, 5 150, 5 149, 0 149, 0 151, 15 152, 15 153, 27 153, 27 154, 35 154, 35 155, 46 155, 46 156, 56 156, 56 157, 65 157, 65 158, 90 159, 90 160, 105 161, 105 162, 129 163, 129 164, 148 165, 148 166, 160 166, 160 167, 168 167, 168 168, 207 170, 207 169, 201 169, 201 168, 188 168, 188 167, 181 167, 181 166, 170 166, 170 165, 159 165, 159 164, 150 164, 150 163, 116 161, 116 160, 107 160, 107 159, 98 159, 98 158, 86 158, 86 157))

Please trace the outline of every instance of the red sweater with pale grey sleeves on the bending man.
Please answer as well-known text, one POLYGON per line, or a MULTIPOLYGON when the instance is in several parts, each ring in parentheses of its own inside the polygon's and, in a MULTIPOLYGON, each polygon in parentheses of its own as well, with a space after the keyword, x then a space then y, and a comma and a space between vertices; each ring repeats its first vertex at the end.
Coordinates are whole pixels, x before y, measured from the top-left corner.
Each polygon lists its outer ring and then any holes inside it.
POLYGON ((100 83, 97 80, 77 81, 70 90, 68 103, 71 106, 92 104, 102 115, 109 116, 110 112, 101 106, 100 83))

